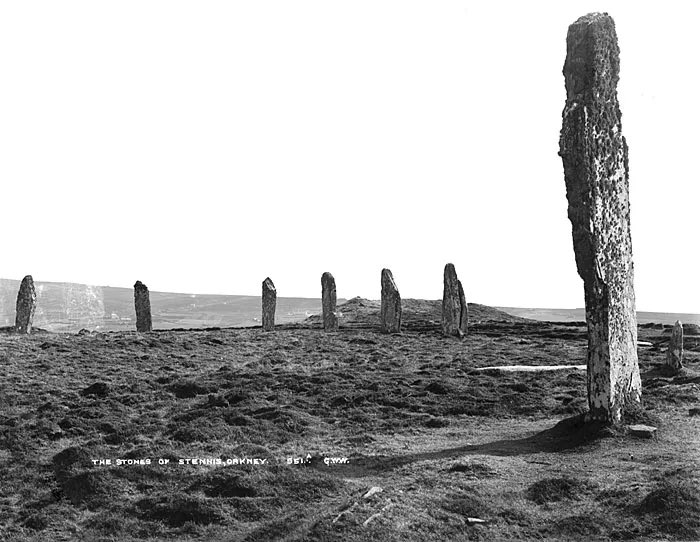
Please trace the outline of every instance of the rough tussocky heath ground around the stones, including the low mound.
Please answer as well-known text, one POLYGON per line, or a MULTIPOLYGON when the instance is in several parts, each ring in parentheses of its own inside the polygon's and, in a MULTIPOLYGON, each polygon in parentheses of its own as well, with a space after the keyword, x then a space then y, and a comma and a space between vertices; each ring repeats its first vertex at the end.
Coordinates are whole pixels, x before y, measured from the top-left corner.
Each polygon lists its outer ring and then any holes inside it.
POLYGON ((402 335, 360 299, 334 334, 0 333, 0 539, 700 539, 698 339, 668 376, 670 326, 640 326, 639 439, 582 423, 584 371, 475 370, 585 363, 583 326, 470 305, 448 339, 439 310, 405 300, 402 335))

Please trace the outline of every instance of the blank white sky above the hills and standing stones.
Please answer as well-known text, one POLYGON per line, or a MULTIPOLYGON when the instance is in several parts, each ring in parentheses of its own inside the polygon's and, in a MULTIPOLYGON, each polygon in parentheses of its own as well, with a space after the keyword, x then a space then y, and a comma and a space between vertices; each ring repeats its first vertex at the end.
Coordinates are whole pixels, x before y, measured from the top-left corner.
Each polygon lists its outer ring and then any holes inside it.
POLYGON ((0 277, 582 307, 569 24, 615 19, 637 308, 700 312, 693 2, 0 4, 0 277))

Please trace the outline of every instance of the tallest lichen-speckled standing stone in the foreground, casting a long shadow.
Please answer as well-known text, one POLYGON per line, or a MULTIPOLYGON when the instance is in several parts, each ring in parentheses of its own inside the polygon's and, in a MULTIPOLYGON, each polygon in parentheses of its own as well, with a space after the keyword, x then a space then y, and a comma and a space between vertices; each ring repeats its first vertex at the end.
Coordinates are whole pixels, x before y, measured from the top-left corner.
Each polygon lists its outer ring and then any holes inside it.
POLYGON ((642 386, 615 23, 607 14, 581 17, 566 43, 559 155, 586 299, 588 417, 618 422, 627 404, 640 401, 642 386))

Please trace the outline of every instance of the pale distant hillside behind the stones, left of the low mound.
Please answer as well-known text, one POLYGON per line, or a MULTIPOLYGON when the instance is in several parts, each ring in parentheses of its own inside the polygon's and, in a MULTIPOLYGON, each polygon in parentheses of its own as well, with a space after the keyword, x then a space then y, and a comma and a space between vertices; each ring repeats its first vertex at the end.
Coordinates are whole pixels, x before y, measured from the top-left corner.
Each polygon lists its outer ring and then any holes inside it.
MULTIPOLYGON (((37 289, 36 327, 67 333, 80 329, 135 329, 131 288, 66 282, 34 284, 37 289)), ((0 326, 14 325, 19 285, 17 280, 0 279, 0 326)), ((245 327, 260 323, 260 296, 150 292, 150 299, 153 327, 157 329, 245 327)), ((276 322, 299 322, 320 311, 320 299, 278 297, 276 322)))

